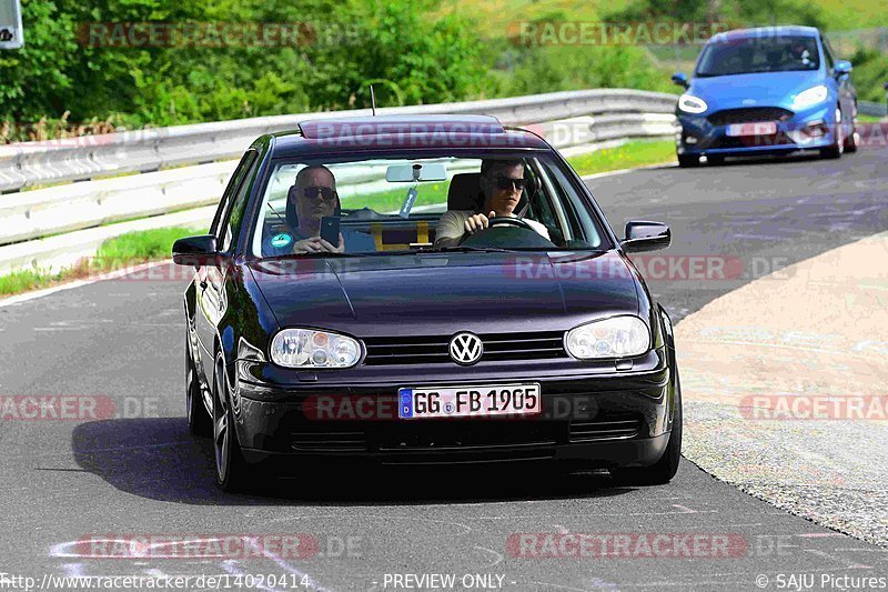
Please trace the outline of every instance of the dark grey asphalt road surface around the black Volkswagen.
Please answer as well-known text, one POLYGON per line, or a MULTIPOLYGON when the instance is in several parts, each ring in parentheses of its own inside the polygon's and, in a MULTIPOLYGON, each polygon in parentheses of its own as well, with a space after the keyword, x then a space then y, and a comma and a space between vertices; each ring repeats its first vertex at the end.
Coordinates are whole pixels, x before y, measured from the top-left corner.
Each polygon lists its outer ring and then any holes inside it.
MULTIPOLYGON (((773 271, 766 264, 779 268, 888 228, 886 170, 888 152, 874 149, 840 161, 662 168, 589 184, 618 229, 628 219, 668 222, 669 257, 741 262, 733 280, 650 280, 679 320, 773 271)), ((888 550, 789 515, 687 461, 658 488, 533 468, 330 474, 336 473, 330 466, 270 481, 258 495, 220 493, 209 441, 192 439, 183 418, 183 283, 105 281, 0 307, 0 394, 83 397, 75 403, 115 415, 0 423, 7 578, 228 574, 221 588, 369 591, 432 589, 404 576, 441 573, 455 576, 455 589, 586 591, 757 590, 764 578, 765 589, 775 590, 789 586, 790 574, 814 576, 814 589, 824 590, 842 583, 821 586, 824 574, 857 579, 846 585, 888 576, 888 550), (303 545, 225 558, 208 556, 204 548, 170 558, 169 545, 155 545, 152 556, 121 559, 119 548, 93 544, 225 534, 268 541, 274 533, 304 534, 303 545), (564 556, 573 548, 558 546, 571 541, 558 533, 597 533, 608 544, 625 543, 619 533, 636 534, 618 556, 577 558, 564 556), (677 556, 649 556, 645 543, 656 535, 666 535, 677 556), (521 556, 522 549, 545 556, 521 556), (287 580, 260 588, 244 574, 287 580)))

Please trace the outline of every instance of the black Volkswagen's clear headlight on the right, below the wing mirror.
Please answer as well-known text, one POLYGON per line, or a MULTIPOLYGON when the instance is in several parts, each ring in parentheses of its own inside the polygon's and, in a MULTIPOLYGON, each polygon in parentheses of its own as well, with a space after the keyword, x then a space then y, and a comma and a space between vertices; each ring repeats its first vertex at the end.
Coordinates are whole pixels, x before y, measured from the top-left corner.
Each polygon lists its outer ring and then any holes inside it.
POLYGON ((579 360, 639 355, 650 347, 650 332, 638 317, 613 317, 571 329, 567 353, 579 360))

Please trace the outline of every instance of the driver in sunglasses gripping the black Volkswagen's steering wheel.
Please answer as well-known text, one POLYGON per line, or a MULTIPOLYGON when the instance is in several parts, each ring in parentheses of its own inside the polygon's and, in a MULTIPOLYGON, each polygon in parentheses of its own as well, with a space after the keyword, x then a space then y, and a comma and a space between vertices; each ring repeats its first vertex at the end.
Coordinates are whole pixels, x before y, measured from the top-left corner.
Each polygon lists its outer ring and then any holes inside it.
MULTIPOLYGON (((481 211, 446 211, 437 223, 435 247, 456 247, 463 239, 486 229, 491 218, 516 218, 513 211, 521 201, 522 191, 527 184, 524 179, 523 161, 485 159, 481 162, 478 183, 484 194, 481 211)), ((527 222, 541 237, 551 240, 546 227, 528 218, 522 220, 527 222)))

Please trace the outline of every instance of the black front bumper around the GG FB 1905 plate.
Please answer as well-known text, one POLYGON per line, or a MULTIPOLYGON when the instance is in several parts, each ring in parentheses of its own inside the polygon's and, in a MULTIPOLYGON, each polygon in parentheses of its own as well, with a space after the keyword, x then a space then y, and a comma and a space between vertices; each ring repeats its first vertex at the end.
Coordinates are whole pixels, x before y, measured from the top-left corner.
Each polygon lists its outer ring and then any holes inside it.
POLYGON ((347 388, 301 384, 273 393, 242 381, 234 405, 238 438, 249 461, 291 468, 297 461, 334 459, 395 464, 545 459, 603 468, 648 465, 666 449, 675 404, 673 367, 665 350, 656 358, 656 368, 637 372, 504 375, 484 382, 538 382, 543 413, 523 418, 397 418, 398 388, 465 384, 465 380, 347 388))

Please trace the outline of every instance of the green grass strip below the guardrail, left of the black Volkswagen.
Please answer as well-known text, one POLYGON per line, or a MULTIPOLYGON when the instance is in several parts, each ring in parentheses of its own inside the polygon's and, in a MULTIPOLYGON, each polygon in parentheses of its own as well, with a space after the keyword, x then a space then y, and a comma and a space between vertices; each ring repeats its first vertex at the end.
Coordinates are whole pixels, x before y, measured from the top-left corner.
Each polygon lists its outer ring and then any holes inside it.
POLYGON ((89 278, 93 273, 165 259, 170 257, 170 249, 176 239, 195 232, 199 231, 181 227, 128 232, 103 242, 92 259, 82 260, 61 271, 28 269, 0 275, 0 297, 51 288, 59 283, 89 278))

